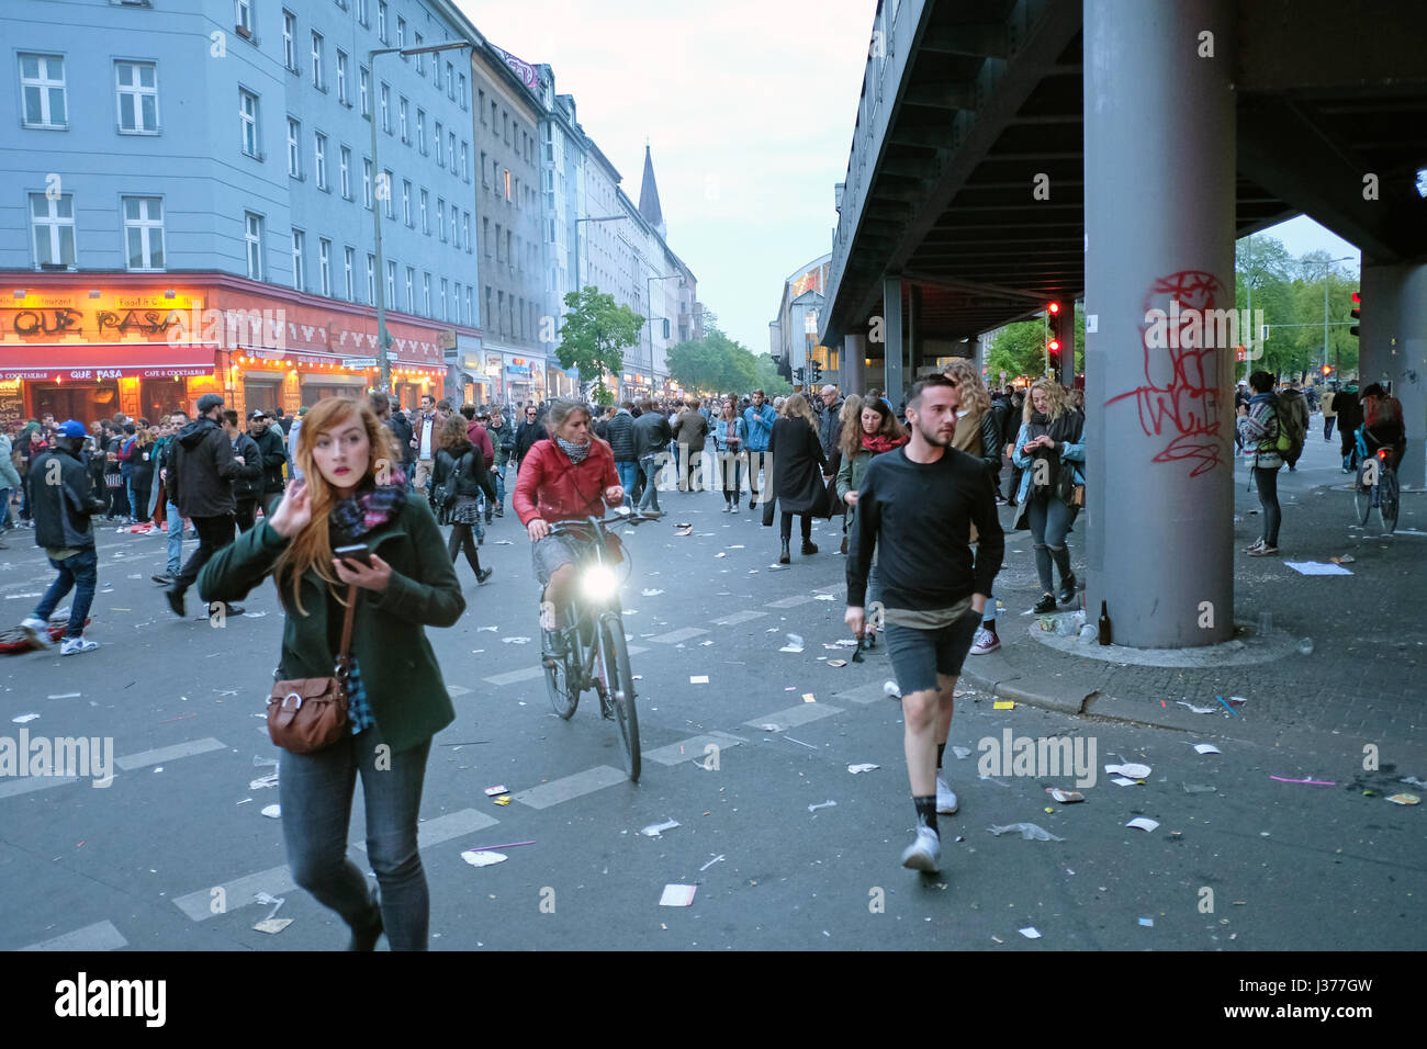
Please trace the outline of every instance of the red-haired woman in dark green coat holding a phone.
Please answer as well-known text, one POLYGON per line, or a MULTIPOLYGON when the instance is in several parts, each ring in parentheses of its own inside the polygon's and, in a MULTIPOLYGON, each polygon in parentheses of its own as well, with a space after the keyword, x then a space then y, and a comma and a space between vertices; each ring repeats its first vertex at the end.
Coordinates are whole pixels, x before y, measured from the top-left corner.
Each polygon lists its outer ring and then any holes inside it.
POLYGON ((427 949, 431 906, 417 811, 431 736, 455 721, 424 628, 454 625, 465 599, 451 558, 442 557, 441 531, 422 501, 407 498, 402 472, 378 482, 398 460, 391 431, 365 401, 320 401, 297 441, 304 480, 198 575, 205 602, 240 601, 273 577, 285 614, 277 671, 284 681, 331 676, 347 594, 357 587, 351 731, 311 754, 284 749, 278 769, 293 881, 351 926, 348 951, 371 951, 382 931, 392 951, 427 949), (332 557, 334 548, 352 544, 365 544, 365 564, 332 557), (365 862, 377 872, 380 901, 347 858, 358 775, 365 862))

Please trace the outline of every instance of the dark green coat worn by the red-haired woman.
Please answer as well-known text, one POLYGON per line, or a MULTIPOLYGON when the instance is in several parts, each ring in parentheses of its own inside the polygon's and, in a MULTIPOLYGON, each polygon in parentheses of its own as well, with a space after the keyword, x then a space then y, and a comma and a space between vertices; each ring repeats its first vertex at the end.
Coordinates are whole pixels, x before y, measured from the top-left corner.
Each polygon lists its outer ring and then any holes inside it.
MULTIPOLYGON (((431 511, 411 500, 395 520, 362 539, 391 565, 381 594, 358 589, 352 624, 352 655, 361 665, 372 716, 394 752, 425 742, 455 721, 455 708, 422 627, 451 627, 465 611, 465 598, 431 511)), ((265 521, 218 551, 198 574, 203 601, 241 601, 273 574, 288 541, 265 521)), ((332 672, 327 644, 325 584, 308 571, 300 584, 301 615, 291 589, 280 599, 285 614, 280 678, 324 678, 332 672)))

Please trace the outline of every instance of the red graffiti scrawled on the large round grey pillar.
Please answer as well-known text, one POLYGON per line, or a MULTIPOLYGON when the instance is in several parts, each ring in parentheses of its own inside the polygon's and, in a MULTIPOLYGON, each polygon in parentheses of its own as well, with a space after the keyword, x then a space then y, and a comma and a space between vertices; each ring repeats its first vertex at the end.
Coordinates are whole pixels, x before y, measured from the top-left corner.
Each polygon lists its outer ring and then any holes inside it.
MULTIPOLYGON (((1214 308, 1216 295, 1224 293, 1224 285, 1212 273, 1182 270, 1160 277, 1144 295, 1146 320, 1140 325, 1140 343, 1144 348, 1144 385, 1112 397, 1106 407, 1133 397, 1140 410, 1140 427, 1147 437, 1172 435, 1172 440, 1154 457, 1154 462, 1177 462, 1190 460, 1194 468, 1190 477, 1224 464, 1227 442, 1220 437, 1219 420, 1219 348, 1203 347, 1202 338, 1190 338, 1186 347, 1183 334, 1190 324, 1202 325, 1203 311, 1214 308), (1169 345, 1152 345, 1150 331, 1154 324, 1149 314, 1162 310, 1172 315, 1172 303, 1177 303, 1179 317, 1174 330, 1164 340, 1169 345), (1199 320, 1194 320, 1199 318, 1199 320)), ((1200 327, 1200 331, 1203 328, 1200 327)), ((1160 334, 1164 334, 1163 323, 1160 334)))

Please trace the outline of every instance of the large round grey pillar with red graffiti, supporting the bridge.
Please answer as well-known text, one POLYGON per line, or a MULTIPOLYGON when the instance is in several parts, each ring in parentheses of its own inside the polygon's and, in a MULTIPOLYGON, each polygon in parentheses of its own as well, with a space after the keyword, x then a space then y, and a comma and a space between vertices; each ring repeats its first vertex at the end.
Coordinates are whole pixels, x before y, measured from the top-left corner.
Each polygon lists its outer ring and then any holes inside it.
POLYGON ((1234 308, 1233 44, 1232 0, 1085 0, 1089 520, 1070 542, 1119 645, 1233 635, 1237 340, 1210 313, 1234 308))

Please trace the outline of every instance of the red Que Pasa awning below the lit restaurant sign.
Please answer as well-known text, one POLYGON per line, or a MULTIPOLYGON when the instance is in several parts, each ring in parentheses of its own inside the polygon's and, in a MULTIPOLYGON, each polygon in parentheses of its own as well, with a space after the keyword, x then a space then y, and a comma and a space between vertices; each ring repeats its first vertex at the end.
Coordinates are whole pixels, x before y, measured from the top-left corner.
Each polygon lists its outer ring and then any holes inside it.
POLYGON ((0 380, 94 382, 104 378, 211 375, 215 345, 53 343, 0 345, 0 380))

